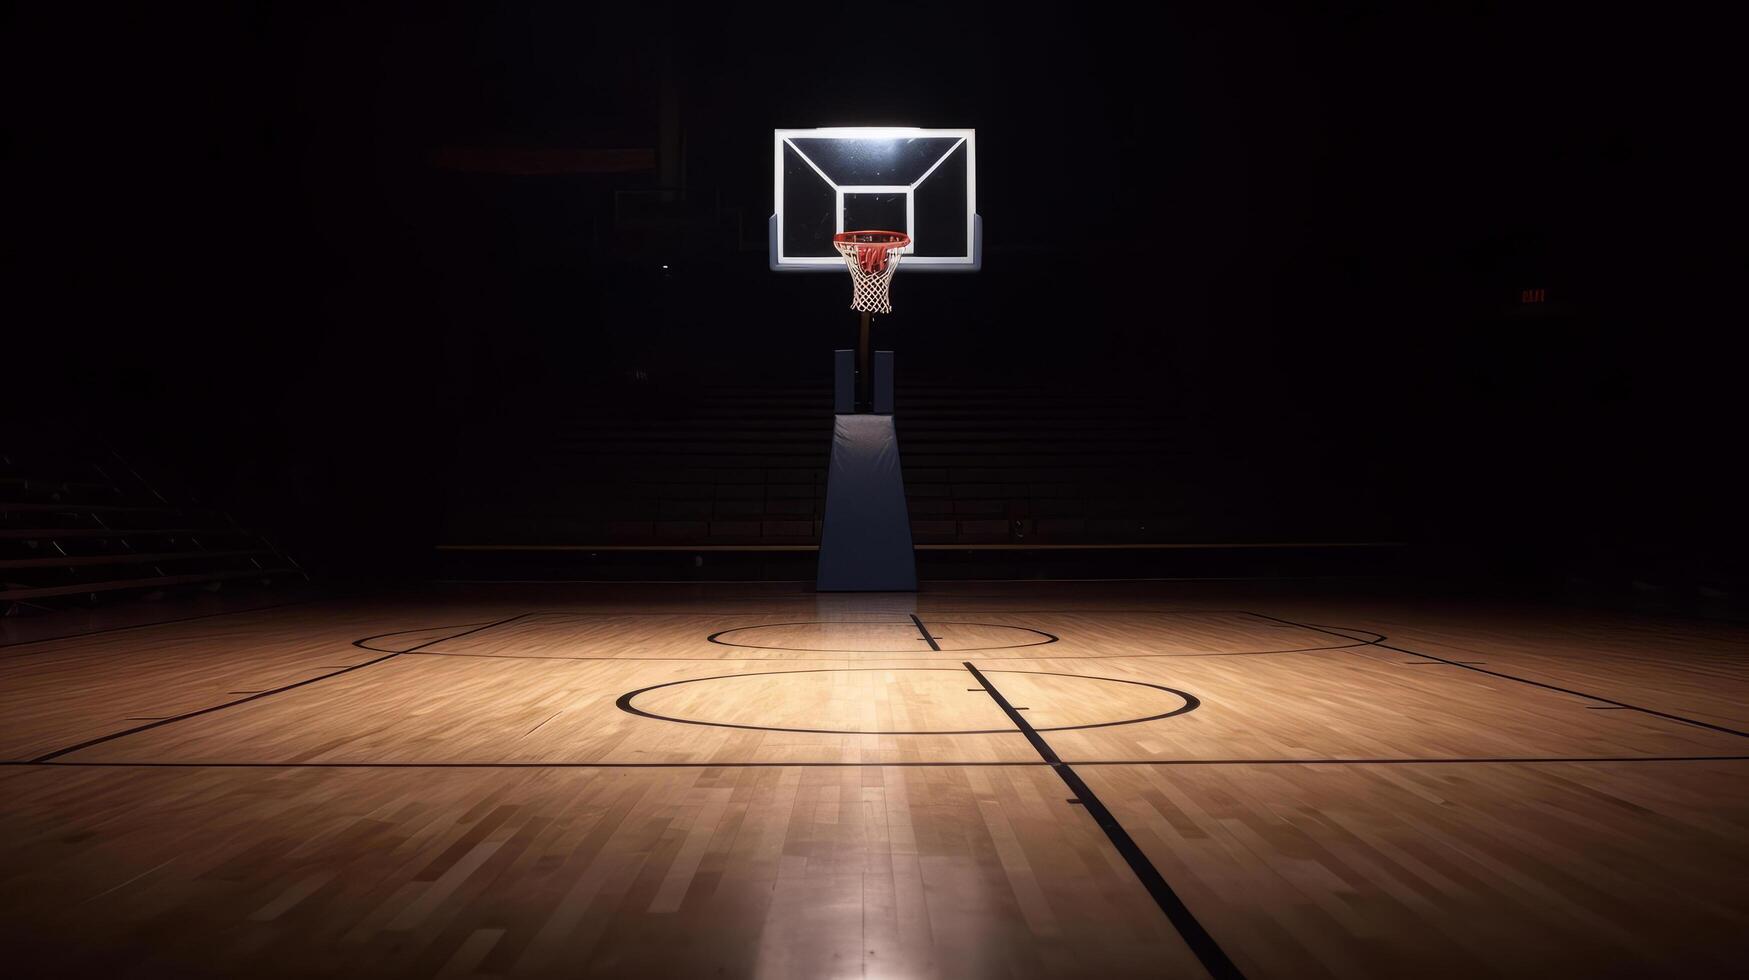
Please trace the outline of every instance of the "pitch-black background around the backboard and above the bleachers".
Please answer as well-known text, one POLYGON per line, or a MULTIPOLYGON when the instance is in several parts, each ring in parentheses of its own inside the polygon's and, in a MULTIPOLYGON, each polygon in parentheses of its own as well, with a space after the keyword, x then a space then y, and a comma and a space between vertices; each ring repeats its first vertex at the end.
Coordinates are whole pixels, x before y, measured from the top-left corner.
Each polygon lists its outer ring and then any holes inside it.
POLYGON ((19 9, 9 424, 404 574, 469 420, 824 380, 847 287, 764 268, 773 128, 974 126, 985 271, 901 276, 913 376, 1340 446, 1282 494, 1364 485, 1452 567, 1740 581, 1719 28, 1289 7, 19 9), (658 163, 504 172, 575 149, 658 163))

